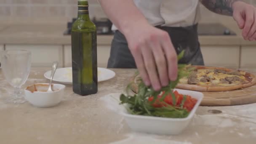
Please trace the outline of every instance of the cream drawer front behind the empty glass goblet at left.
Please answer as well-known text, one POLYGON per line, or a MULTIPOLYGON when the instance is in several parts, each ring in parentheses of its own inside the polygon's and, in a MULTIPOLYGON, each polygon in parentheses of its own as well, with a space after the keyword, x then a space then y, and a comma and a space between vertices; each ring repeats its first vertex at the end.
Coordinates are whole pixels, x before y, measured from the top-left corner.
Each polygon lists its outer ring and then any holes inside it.
POLYGON ((51 67, 53 61, 59 61, 59 67, 63 67, 62 45, 5 45, 5 49, 31 51, 32 66, 35 67, 51 67))

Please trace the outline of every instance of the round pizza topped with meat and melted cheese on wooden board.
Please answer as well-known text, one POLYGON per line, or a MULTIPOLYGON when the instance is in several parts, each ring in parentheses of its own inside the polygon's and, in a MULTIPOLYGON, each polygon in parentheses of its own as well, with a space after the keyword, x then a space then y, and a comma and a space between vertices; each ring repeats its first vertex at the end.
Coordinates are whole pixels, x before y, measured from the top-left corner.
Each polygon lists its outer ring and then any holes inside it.
MULTIPOLYGON (((229 87, 233 85, 244 85, 252 82, 253 79, 253 75, 242 70, 195 66, 194 72, 191 72, 188 77, 182 78, 179 83, 203 87, 229 87)), ((178 86, 177 88, 182 88, 182 86, 178 86)), ((194 88, 192 87, 193 90, 194 88)), ((234 86, 233 88, 237 89, 234 86)), ((223 90, 221 89, 220 91, 223 90)), ((208 90, 206 89, 206 91, 208 90)), ((217 91, 217 89, 214 91, 217 91)))

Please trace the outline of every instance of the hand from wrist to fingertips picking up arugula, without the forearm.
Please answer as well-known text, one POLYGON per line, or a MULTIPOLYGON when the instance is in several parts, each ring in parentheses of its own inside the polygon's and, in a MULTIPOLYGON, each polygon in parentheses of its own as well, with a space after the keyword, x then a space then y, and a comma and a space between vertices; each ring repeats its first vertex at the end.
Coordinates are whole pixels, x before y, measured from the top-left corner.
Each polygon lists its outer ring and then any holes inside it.
POLYGON ((177 55, 167 32, 149 24, 125 32, 142 80, 158 91, 177 77, 177 55))

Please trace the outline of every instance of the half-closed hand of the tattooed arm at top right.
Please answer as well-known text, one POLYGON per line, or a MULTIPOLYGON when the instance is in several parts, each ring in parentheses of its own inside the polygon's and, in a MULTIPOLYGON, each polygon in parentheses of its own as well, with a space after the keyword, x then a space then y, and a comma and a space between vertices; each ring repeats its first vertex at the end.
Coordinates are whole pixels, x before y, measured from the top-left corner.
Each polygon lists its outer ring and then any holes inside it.
POLYGON ((244 2, 236 1, 232 4, 233 18, 245 40, 256 40, 256 8, 244 2))

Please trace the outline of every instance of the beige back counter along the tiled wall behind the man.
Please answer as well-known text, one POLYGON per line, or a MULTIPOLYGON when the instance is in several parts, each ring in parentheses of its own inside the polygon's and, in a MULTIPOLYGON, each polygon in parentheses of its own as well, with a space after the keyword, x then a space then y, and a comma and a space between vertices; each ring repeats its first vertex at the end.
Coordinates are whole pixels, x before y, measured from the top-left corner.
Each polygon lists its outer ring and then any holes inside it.
MULTIPOLYGON (((70 35, 63 35, 67 18, 1 18, 0 44, 49 44, 70 45, 70 35)), ((237 35, 200 35, 201 45, 256 45, 256 41, 245 41, 241 30, 232 17, 220 16, 216 19, 201 19, 200 23, 221 23, 237 35)), ((110 45, 112 35, 98 35, 98 45, 110 45)))

